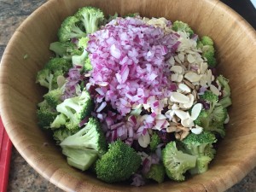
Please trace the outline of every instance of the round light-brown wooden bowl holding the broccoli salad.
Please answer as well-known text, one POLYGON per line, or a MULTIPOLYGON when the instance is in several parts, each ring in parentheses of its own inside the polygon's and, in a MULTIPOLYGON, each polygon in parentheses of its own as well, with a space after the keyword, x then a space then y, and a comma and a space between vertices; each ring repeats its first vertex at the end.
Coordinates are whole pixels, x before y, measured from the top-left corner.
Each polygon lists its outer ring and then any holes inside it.
POLYGON ((217 0, 51 0, 17 29, 5 49, 0 73, 3 124, 15 148, 51 183, 67 191, 224 191, 256 165, 256 34, 241 16, 217 0), (107 14, 138 12, 183 20, 216 44, 218 69, 230 79, 233 105, 227 135, 208 172, 183 183, 148 184, 142 188, 107 184, 67 165, 55 143, 37 125, 37 103, 43 90, 35 84, 49 59, 49 44, 67 15, 96 6, 107 14), (24 59, 24 55, 28 55, 24 59))

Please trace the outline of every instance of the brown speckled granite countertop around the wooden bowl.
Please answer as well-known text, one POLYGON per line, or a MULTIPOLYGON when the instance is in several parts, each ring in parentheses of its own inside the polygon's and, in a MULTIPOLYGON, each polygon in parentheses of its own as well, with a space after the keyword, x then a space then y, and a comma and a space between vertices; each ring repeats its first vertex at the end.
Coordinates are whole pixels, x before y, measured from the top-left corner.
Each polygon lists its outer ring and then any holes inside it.
MULTIPOLYGON (((32 14, 35 9, 45 2, 46 0, 0 0, 0 59, 15 29, 28 15, 32 14)), ((234 9, 236 8, 234 7, 234 9)), ((248 16, 245 15, 244 17, 246 18, 248 16)), ((250 20, 251 15, 248 18, 250 20)), ((251 21, 251 25, 253 26, 255 24, 255 18, 251 21)), ((20 156, 17 150, 13 148, 8 191, 61 192, 62 190, 56 188, 55 185, 49 183, 44 177, 41 177, 38 172, 35 172, 20 156)), ((226 192, 256 192, 256 168, 252 172, 249 172, 247 177, 244 177, 240 183, 237 183, 226 192)))

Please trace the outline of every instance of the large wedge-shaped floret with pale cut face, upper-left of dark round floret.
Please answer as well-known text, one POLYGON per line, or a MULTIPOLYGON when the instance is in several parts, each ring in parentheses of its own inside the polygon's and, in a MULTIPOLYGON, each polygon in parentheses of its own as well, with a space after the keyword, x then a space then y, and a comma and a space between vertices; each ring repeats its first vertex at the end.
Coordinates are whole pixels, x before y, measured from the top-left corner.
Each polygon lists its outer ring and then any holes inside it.
MULTIPOLYGON (((61 143, 61 148, 81 149, 84 153, 101 156, 106 153, 106 138, 102 126, 96 118, 90 118, 80 131, 66 137, 61 143)), ((70 157, 70 155, 67 155, 70 157)))

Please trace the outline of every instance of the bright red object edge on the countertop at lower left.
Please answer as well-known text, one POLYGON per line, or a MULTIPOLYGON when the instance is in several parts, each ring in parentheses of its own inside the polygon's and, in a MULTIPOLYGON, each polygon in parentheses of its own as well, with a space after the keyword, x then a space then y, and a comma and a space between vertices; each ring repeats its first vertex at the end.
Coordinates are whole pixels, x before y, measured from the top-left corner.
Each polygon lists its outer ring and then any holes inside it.
POLYGON ((9 164, 12 152, 12 143, 4 129, 0 118, 0 191, 6 192, 9 179, 9 164))

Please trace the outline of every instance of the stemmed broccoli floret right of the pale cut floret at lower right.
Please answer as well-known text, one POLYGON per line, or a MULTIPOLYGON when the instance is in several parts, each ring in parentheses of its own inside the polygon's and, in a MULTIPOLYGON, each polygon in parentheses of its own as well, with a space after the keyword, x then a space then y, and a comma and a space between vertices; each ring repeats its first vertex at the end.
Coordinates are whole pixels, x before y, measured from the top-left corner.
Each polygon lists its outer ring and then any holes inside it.
MULTIPOLYGON (((189 134, 182 141, 187 153, 197 157, 195 168, 189 170, 191 174, 206 172, 208 164, 212 160, 214 154, 209 155, 212 148, 212 143, 216 143, 217 139, 210 131, 203 131, 201 134, 189 134), (207 148, 207 150, 206 150, 207 148), (207 152, 207 153, 206 153, 207 152)), ((212 150, 213 152, 213 150, 212 150)))

